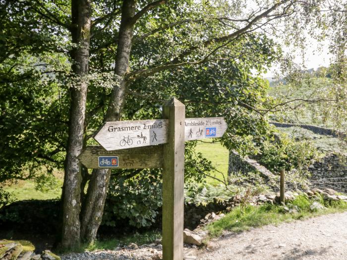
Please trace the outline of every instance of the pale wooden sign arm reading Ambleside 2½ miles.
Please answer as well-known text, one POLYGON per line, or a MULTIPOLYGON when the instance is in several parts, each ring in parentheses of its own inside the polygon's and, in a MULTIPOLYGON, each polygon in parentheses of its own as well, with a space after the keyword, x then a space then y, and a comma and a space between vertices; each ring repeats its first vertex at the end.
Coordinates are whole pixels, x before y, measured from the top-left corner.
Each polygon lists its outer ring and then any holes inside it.
POLYGON ((228 127, 223 117, 186 118, 184 126, 185 141, 222 137, 228 127), (214 127, 215 134, 209 136, 206 128, 214 127))

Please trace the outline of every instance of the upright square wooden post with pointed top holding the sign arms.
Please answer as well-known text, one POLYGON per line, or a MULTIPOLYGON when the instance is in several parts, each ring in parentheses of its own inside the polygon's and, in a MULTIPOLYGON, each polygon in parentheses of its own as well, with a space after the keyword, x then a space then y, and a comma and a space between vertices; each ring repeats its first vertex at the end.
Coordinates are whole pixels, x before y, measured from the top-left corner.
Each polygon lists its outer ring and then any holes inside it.
POLYGON ((163 106, 163 118, 169 119, 163 165, 163 260, 182 260, 184 104, 172 98, 163 106))

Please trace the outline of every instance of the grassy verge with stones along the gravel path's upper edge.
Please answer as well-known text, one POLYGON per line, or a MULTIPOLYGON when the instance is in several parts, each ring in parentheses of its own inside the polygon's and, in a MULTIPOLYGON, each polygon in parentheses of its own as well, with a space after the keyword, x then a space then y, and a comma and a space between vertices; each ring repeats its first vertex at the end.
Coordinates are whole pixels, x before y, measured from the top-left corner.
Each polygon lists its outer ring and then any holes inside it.
MULTIPOLYGON (((310 206, 314 202, 307 197, 300 195, 296 199, 287 203, 288 208, 298 208, 298 212, 285 213, 283 206, 265 204, 262 206, 240 206, 234 208, 225 217, 207 225, 211 237, 220 236, 224 230, 241 232, 251 227, 259 227, 268 224, 277 225, 281 222, 289 222, 296 219, 303 219, 322 214, 342 212, 347 210, 347 203, 339 201, 328 203, 322 198, 318 198, 319 203, 326 208, 321 210, 311 210, 310 206)), ((317 201, 317 200, 316 200, 317 201)))

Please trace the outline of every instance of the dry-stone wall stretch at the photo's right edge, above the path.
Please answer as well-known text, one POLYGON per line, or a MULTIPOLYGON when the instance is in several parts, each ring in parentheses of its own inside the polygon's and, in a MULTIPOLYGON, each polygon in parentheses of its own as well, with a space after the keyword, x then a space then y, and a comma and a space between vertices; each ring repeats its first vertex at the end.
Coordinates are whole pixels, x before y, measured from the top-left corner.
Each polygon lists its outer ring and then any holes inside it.
POLYGON ((308 170, 312 186, 347 193, 347 155, 330 153, 309 166, 308 170))

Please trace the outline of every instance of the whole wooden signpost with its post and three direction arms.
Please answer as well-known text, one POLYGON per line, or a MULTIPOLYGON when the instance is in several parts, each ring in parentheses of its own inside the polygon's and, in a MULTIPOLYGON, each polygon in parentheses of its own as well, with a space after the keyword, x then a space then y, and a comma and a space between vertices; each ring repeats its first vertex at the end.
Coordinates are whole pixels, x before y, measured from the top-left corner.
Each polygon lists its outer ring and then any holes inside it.
POLYGON ((185 118, 172 98, 163 119, 106 122, 79 160, 87 168, 163 168, 163 259, 183 259, 184 141, 222 137, 223 117, 185 118))

